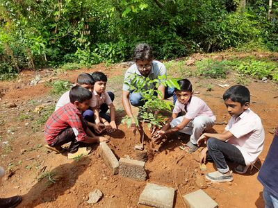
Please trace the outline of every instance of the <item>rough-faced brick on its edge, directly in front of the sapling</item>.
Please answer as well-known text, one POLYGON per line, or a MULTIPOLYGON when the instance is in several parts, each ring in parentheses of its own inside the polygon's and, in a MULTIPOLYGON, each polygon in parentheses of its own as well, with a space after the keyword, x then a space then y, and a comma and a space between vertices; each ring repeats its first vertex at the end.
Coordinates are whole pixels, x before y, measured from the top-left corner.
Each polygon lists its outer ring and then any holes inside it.
POLYGON ((147 173, 145 171, 145 162, 135 159, 121 158, 119 163, 119 174, 122 177, 129 177, 133 180, 140 181, 146 180, 147 173))

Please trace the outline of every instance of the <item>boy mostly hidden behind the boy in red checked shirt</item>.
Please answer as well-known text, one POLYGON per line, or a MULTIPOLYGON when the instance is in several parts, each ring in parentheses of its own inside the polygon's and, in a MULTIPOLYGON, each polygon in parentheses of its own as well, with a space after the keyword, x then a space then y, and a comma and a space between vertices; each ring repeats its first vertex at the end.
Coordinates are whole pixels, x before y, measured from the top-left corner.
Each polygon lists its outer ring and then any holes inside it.
MULTIPOLYGON (((94 90, 95 81, 93 80, 92 76, 89 73, 80 73, 76 80, 76 85, 81 86, 85 89, 89 89, 90 92, 94 90)), ((70 103, 70 90, 65 92, 59 99, 58 103, 56 104, 55 111, 58 110, 60 107, 63 107, 67 103, 70 103)), ((96 105, 95 96, 92 95, 90 99, 90 107, 96 105)), ((88 121, 88 126, 92 127, 95 132, 101 133, 104 126, 95 125, 94 113, 91 109, 85 110, 82 112, 83 118, 88 121)))

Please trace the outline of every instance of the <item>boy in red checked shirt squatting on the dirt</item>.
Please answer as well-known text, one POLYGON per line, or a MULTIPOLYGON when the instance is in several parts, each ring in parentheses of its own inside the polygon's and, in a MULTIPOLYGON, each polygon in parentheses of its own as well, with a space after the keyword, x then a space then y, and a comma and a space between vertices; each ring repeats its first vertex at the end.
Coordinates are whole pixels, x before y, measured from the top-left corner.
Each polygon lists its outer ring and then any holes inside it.
POLYGON ((70 103, 56 110, 44 127, 44 138, 47 144, 62 152, 63 144, 71 141, 67 157, 73 159, 81 154, 88 155, 90 150, 79 148, 83 143, 99 143, 107 141, 105 137, 96 137, 92 134, 83 120, 81 112, 88 109, 92 92, 81 86, 72 87, 70 90, 70 103))

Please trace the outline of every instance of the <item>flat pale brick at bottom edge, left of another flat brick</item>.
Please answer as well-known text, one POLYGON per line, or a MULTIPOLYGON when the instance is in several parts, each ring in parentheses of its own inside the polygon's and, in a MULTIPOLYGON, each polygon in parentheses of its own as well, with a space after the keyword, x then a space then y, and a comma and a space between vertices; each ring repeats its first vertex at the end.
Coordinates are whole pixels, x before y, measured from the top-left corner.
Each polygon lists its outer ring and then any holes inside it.
POLYGON ((151 207, 172 208, 174 204, 174 188, 147 183, 138 203, 151 207))

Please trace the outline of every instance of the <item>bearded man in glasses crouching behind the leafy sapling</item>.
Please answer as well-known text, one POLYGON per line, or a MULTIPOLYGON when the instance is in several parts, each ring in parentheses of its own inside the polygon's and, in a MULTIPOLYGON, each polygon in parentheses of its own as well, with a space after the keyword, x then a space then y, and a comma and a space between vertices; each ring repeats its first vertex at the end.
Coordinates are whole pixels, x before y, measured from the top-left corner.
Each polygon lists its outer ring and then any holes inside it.
MULTIPOLYGON (((122 104, 124 105, 124 110, 129 117, 133 117, 131 111, 131 105, 139 107, 144 105, 144 101, 140 93, 131 91, 129 85, 131 84, 131 76, 137 74, 138 76, 144 76, 150 80, 157 79, 158 76, 166 76, 166 68, 163 63, 154 60, 154 55, 152 52, 152 47, 148 44, 138 44, 134 49, 133 58, 135 63, 127 69, 124 76, 124 85, 122 87, 122 104)), ((150 85, 149 87, 154 87, 150 85)), ((145 86, 145 89, 147 86, 145 86)), ((174 88, 168 88, 163 85, 158 86, 158 91, 161 92, 162 97, 169 98, 174 95, 174 88)), ((176 98, 174 97, 174 101, 176 98)), ((133 122, 131 125, 133 133, 136 133, 136 125, 133 122)))

